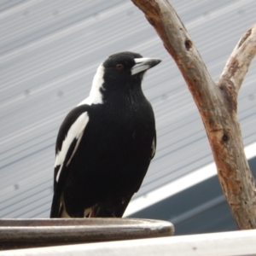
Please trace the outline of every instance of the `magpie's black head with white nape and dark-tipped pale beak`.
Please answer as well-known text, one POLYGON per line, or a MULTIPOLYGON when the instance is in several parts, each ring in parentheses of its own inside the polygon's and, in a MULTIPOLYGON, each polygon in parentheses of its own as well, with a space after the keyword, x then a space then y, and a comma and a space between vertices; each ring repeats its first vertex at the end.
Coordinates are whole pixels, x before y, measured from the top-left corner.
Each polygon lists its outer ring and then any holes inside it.
POLYGON ((90 90, 90 103, 102 103, 103 96, 141 90, 143 74, 159 63, 159 59, 143 58, 129 51, 110 55, 96 71, 90 90))

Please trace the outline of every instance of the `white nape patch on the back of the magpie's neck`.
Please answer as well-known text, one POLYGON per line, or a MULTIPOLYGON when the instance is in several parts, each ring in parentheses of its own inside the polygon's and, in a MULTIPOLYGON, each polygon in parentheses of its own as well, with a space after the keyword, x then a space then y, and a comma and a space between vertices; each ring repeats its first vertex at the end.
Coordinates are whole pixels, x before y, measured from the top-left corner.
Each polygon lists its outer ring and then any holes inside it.
POLYGON ((102 92, 101 90, 104 90, 103 88, 103 83, 104 83, 104 79, 103 79, 103 75, 104 75, 104 67, 101 64, 96 71, 96 74, 94 76, 94 79, 92 81, 92 86, 90 89, 90 95, 89 97, 87 97, 83 102, 80 102, 78 106, 83 105, 83 104, 87 104, 87 105, 91 105, 91 104, 102 104, 102 92))

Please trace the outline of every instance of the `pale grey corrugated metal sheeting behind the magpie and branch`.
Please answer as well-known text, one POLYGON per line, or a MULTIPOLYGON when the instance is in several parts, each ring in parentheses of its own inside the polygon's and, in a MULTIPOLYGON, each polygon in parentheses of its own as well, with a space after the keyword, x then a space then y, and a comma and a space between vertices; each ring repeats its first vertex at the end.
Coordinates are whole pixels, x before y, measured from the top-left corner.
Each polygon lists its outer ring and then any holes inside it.
MULTIPOLYGON (((218 79, 238 39, 255 22, 255 1, 172 1, 218 79)), ((121 50, 163 60, 143 89, 152 102, 158 145, 140 191, 212 161, 195 103, 143 13, 128 0, 0 3, 0 217, 49 216, 55 137, 68 110, 90 91, 96 67, 121 50)), ((245 145, 256 141, 255 64, 239 95, 245 145)))

